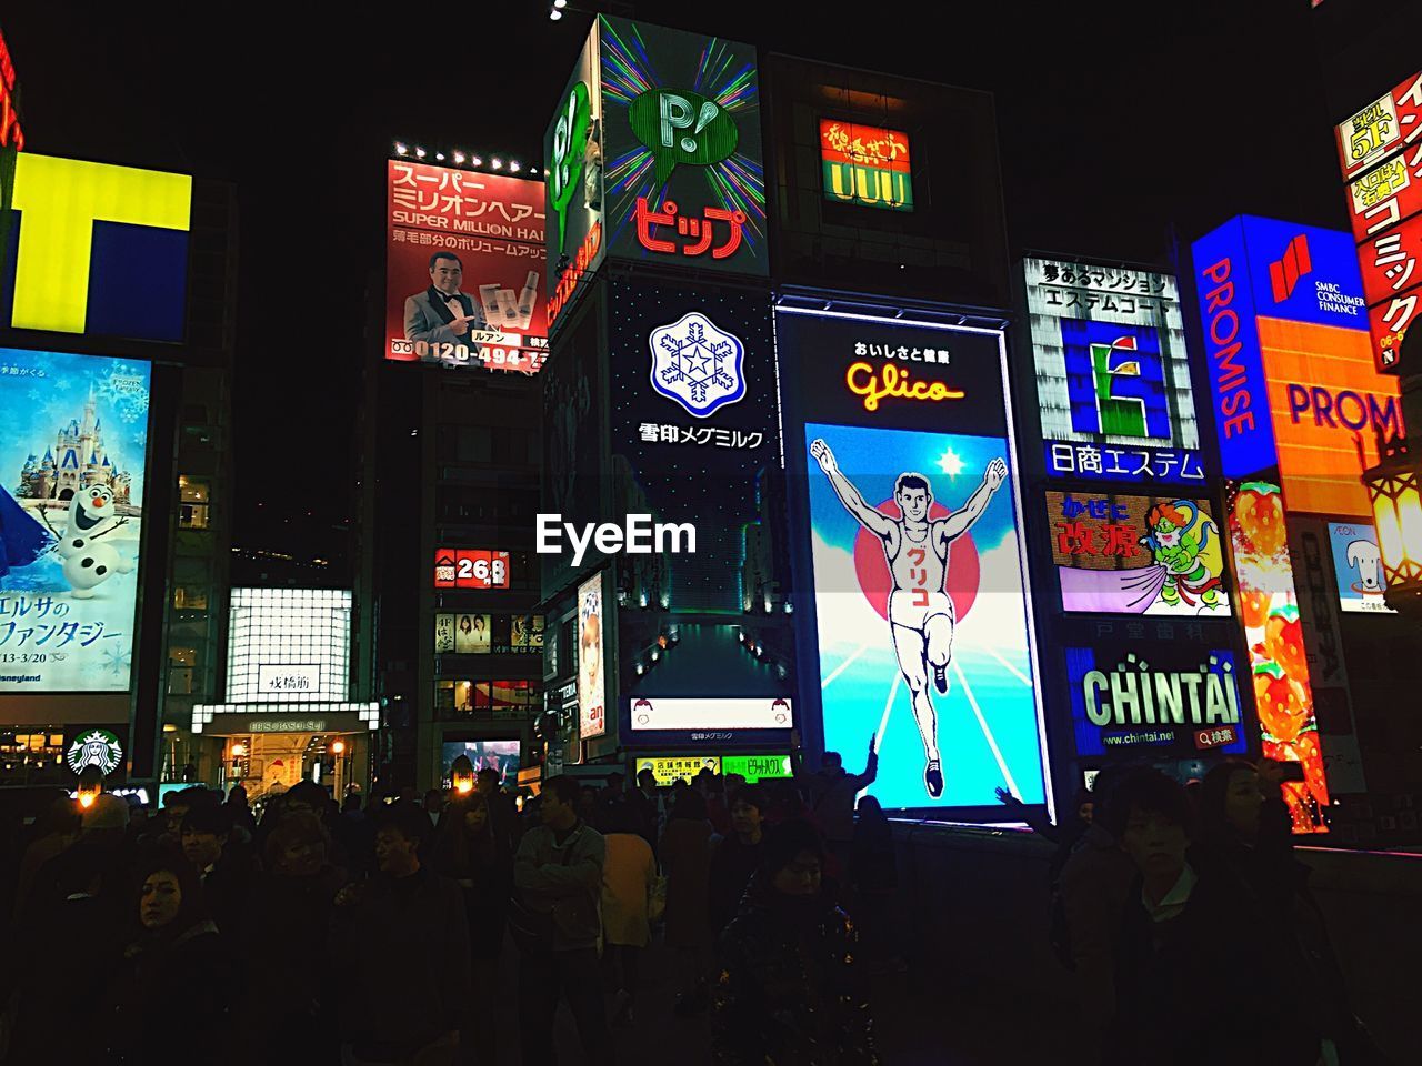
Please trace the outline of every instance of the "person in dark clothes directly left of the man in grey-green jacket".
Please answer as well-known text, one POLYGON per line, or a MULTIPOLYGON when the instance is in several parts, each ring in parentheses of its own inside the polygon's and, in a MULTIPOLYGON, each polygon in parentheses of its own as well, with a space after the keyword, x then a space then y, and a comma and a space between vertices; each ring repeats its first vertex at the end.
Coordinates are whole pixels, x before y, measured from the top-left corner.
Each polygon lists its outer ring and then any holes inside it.
POLYGON ((458 883, 469 918, 472 1032, 464 1043, 475 1048, 478 1062, 495 1063, 499 954, 513 893, 513 856, 493 831, 488 796, 471 792, 454 799, 435 837, 434 867, 458 883))

